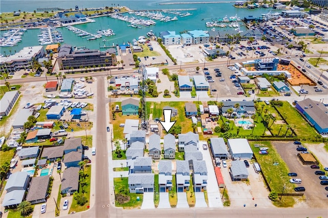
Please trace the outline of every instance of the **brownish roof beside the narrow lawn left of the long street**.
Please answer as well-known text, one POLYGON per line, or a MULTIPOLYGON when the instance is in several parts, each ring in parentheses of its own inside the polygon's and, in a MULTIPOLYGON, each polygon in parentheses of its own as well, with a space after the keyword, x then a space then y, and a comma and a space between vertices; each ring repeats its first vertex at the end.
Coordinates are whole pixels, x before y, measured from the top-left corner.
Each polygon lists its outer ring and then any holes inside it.
POLYGON ((61 189, 63 191, 67 188, 78 190, 79 167, 69 167, 63 172, 63 181, 61 181, 61 189))

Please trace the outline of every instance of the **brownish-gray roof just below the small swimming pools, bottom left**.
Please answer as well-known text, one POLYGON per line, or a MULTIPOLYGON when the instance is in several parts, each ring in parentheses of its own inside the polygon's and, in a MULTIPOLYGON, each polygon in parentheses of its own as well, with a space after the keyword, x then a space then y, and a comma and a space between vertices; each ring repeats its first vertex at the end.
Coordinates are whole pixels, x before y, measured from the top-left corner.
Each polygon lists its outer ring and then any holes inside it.
POLYGON ((50 175, 33 177, 29 192, 27 193, 27 201, 36 201, 45 199, 49 185, 50 175))

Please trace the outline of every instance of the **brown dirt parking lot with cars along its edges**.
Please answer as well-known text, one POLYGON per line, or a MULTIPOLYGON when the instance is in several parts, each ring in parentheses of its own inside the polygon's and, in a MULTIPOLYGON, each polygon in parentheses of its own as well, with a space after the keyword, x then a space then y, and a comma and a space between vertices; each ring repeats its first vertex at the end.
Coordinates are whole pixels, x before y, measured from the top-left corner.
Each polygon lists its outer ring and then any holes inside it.
MULTIPOLYGON (((297 157, 297 146, 293 142, 272 142, 283 161, 290 168, 290 172, 297 173, 297 177, 302 180, 296 186, 305 187, 306 203, 309 207, 326 207, 327 191, 325 186, 320 184, 319 176, 314 172, 319 169, 312 169, 310 165, 303 165, 297 157)), ((309 151, 310 152, 310 151, 309 151)), ((283 185, 283 184, 282 184, 283 185)))

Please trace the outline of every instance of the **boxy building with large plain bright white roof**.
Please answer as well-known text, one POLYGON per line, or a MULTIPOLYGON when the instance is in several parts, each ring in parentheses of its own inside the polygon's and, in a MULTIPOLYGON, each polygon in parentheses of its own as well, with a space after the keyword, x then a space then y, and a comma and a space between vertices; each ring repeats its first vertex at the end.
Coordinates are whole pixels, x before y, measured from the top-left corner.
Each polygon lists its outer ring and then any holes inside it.
POLYGON ((245 138, 233 138, 228 139, 228 148, 231 153, 231 157, 237 159, 252 159, 253 151, 245 138))

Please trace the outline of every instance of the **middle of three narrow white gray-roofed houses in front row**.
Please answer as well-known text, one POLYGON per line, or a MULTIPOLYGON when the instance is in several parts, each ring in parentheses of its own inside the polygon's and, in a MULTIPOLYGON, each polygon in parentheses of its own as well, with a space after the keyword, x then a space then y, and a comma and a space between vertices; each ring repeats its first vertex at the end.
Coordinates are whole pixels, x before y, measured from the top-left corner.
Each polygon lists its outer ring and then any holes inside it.
POLYGON ((188 160, 176 161, 176 190, 177 192, 185 192, 190 186, 190 170, 188 160))

